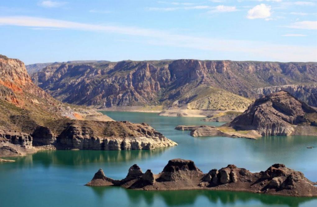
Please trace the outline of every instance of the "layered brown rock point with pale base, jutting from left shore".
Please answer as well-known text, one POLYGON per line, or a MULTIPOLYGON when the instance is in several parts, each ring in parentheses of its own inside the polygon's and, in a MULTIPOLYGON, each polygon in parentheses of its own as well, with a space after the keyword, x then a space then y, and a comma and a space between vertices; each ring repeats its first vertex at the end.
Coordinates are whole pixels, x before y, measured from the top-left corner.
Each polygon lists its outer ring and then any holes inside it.
MULTIPOLYGON (((51 140, 49 136, 49 140, 51 140)), ((58 149, 130 150, 177 145, 146 123, 74 120, 56 137, 58 149)))

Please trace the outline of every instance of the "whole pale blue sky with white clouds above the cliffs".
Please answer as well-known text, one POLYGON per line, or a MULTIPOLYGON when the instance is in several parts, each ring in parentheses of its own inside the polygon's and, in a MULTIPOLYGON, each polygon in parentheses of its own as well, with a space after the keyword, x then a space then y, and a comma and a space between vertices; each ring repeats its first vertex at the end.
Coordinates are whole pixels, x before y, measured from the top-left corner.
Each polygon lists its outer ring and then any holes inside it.
POLYGON ((0 1, 0 54, 68 60, 317 61, 317 1, 0 1))

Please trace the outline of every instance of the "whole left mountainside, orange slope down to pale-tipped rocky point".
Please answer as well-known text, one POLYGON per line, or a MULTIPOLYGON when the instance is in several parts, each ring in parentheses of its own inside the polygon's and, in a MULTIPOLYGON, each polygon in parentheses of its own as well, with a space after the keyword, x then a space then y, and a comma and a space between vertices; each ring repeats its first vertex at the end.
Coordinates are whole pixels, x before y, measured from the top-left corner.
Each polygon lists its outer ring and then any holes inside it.
POLYGON ((176 145, 146 123, 115 122, 63 104, 35 85, 24 63, 0 55, 0 156, 39 149, 155 149, 176 145))

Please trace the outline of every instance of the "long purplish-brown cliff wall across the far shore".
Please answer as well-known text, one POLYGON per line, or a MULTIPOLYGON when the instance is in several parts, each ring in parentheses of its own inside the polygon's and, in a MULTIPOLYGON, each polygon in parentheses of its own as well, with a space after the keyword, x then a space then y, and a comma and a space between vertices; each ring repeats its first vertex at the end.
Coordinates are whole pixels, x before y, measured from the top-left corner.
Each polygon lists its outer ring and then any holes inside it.
POLYGON ((316 76, 314 62, 160 60, 53 64, 32 79, 63 102, 111 107, 187 104, 197 86, 257 97, 257 88, 314 83, 316 76))

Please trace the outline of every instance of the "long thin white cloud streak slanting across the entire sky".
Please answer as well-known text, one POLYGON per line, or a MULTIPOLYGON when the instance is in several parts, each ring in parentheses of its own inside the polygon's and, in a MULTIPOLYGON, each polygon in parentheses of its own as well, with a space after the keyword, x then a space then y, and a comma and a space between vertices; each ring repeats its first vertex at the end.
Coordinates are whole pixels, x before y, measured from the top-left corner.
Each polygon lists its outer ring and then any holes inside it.
POLYGON ((210 37, 173 34, 164 30, 87 24, 30 16, 0 16, 0 26, 1 25, 102 31, 113 34, 139 36, 145 44, 158 46, 181 47, 239 54, 244 53, 248 56, 257 55, 262 57, 262 59, 274 61, 317 61, 317 51, 316 48, 312 46, 272 44, 264 41, 216 39, 210 37))

